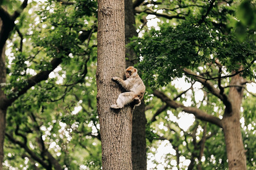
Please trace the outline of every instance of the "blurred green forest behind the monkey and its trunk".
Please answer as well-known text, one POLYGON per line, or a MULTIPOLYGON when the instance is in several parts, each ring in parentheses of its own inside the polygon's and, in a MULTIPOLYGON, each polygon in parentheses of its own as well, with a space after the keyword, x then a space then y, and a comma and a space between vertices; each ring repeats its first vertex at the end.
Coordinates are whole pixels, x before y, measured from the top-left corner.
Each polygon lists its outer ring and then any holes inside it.
MULTIPOLYGON (((0 5, 0 169, 100 169, 97 2, 0 5)), ((126 65, 147 87, 133 169, 255 169, 255 1, 125 10, 126 65)))

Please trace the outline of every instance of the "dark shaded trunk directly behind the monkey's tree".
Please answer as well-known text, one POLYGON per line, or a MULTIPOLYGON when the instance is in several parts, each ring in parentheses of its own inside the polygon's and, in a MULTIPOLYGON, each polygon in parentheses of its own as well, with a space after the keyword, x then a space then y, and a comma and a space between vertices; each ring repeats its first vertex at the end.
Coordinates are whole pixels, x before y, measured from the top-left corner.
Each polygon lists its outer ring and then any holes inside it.
MULTIPOLYGON (((138 36, 136 32, 133 1, 125 1, 125 44, 130 42, 130 38, 138 36)), ((138 63, 138 58, 131 48, 125 49, 126 67, 134 66, 138 63)), ((145 104, 142 102, 139 107, 135 107, 133 111, 133 134, 131 137, 131 155, 133 162, 133 170, 147 169, 147 151, 146 151, 146 116, 145 104)))

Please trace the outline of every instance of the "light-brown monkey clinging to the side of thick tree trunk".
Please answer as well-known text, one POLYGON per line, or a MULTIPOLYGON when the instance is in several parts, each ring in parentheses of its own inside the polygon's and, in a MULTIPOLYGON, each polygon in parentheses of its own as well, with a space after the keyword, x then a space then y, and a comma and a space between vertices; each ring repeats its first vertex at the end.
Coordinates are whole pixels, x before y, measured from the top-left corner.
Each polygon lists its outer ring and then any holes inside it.
POLYGON ((123 92, 118 96, 116 104, 112 104, 110 108, 112 109, 121 109, 125 105, 133 103, 135 106, 141 104, 146 87, 142 79, 137 73, 137 69, 133 66, 130 66, 126 69, 125 72, 126 80, 114 76, 112 80, 119 83, 127 92, 123 92))

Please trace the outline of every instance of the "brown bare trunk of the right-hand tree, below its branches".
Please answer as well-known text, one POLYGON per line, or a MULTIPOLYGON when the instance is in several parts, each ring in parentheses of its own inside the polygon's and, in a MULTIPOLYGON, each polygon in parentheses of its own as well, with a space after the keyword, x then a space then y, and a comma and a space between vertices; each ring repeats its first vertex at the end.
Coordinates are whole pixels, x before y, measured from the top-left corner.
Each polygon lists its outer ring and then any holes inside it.
MULTIPOLYGON (((243 78, 236 75, 232 78, 230 85, 240 85, 243 78)), ((225 135, 226 152, 228 154, 229 170, 245 170, 246 156, 243 147, 241 124, 240 124, 240 108, 243 97, 243 88, 230 87, 229 99, 232 105, 231 109, 225 109, 222 118, 222 126, 225 135)))

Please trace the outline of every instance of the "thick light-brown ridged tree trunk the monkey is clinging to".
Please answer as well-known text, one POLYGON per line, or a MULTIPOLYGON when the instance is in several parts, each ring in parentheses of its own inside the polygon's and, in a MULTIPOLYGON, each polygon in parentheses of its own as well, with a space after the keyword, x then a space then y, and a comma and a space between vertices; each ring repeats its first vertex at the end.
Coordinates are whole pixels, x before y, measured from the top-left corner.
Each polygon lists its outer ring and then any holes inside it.
POLYGON ((110 109, 120 86, 113 76, 125 75, 125 3, 98 1, 97 109, 100 118, 102 168, 132 169, 132 108, 110 109))

